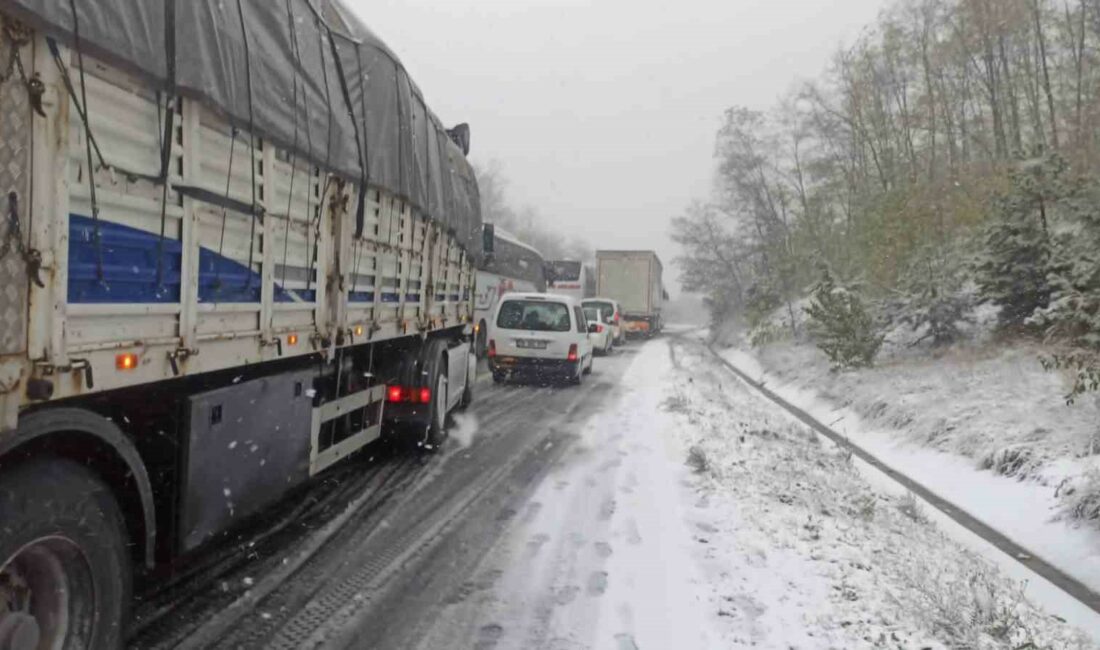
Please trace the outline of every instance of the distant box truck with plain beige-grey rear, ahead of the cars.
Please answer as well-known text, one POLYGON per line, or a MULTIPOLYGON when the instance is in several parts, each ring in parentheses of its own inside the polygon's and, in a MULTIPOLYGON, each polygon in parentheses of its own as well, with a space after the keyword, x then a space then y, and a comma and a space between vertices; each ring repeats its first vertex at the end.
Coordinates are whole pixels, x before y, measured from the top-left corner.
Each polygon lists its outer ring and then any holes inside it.
POLYGON ((596 297, 617 300, 627 335, 661 331, 667 294, 661 260, 652 251, 596 251, 596 297))

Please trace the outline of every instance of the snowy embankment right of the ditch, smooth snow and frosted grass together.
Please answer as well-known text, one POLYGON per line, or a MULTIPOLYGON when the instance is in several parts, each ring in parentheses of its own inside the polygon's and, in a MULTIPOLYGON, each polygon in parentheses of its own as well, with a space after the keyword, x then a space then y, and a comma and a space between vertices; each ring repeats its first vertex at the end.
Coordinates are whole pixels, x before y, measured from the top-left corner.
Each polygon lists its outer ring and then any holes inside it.
POLYGON ((1094 401, 1065 405, 1065 384, 1027 348, 887 356, 832 373, 809 344, 723 356, 894 470, 1100 591, 1100 531, 1075 517, 1097 488, 1094 401), (1085 500, 1082 500, 1085 499, 1085 500))

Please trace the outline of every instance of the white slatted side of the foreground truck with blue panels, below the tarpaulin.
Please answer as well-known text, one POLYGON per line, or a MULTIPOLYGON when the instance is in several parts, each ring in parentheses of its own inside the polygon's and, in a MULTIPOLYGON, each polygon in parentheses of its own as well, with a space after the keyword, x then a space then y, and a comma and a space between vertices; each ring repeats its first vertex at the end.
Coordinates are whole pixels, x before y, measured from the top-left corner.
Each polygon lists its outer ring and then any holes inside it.
MULTIPOLYGON (((24 60, 33 60, 28 73, 40 74, 45 85, 46 117, 32 122, 33 186, 24 219, 30 246, 43 256, 46 286, 31 290, 28 352, 18 361, 24 386, 29 377, 46 377, 54 398, 64 398, 470 323, 470 257, 437 222, 370 187, 362 236, 355 238, 354 184, 251 139, 246 125, 237 124, 234 136, 220 115, 188 99, 175 104, 166 192, 162 184, 128 178, 95 158, 89 170, 85 126, 45 40, 36 36, 32 47, 33 57, 24 60), (114 238, 98 249, 88 234, 96 232, 92 183, 98 228, 112 229, 114 238), (179 187, 245 206, 255 192, 263 219, 179 187), (70 223, 70 216, 77 221, 70 223), (74 233, 82 239, 70 241, 74 233), (163 246, 154 258, 164 277, 175 277, 166 284, 175 283, 178 298, 128 294, 157 285, 155 263, 133 262, 110 243, 129 240, 163 246), (74 251, 87 256, 81 273, 99 256, 110 279, 78 277, 70 285, 74 251), (218 298, 222 290, 226 297, 218 298), (136 354, 136 367, 118 370, 119 353, 136 354)), ((62 53, 76 79, 76 58, 64 47, 62 53)), ((88 55, 85 81, 90 129, 108 165, 155 175, 164 98, 158 102, 140 80, 88 55)), ((0 428, 10 426, 10 410, 0 414, 0 428)))

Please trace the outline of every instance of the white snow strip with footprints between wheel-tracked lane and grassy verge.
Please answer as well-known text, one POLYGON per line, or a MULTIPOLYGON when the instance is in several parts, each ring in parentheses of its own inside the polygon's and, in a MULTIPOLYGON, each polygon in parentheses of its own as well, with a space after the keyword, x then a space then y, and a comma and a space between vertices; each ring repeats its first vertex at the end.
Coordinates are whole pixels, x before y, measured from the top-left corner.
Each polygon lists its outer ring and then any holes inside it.
POLYGON ((669 348, 636 356, 479 566, 491 586, 448 608, 424 647, 719 646, 698 562, 705 505, 662 406, 669 348))

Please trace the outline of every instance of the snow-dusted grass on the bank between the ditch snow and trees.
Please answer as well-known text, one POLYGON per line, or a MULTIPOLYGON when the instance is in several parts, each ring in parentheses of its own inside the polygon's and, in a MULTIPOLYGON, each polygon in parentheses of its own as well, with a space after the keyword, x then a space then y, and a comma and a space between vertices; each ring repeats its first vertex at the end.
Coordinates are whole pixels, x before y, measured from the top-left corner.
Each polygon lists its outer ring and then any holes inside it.
MULTIPOLYGON (((913 345, 919 332, 891 331, 876 366, 860 371, 833 372, 812 342, 790 337, 751 346, 751 354, 774 379, 850 408, 900 440, 1048 487, 1059 500, 1052 516, 1100 525, 1100 400, 1067 405, 1071 383, 1040 361, 1048 351, 998 340, 991 317, 979 317, 971 339, 948 349, 913 345)), ((718 343, 750 348, 734 331, 718 343)))

